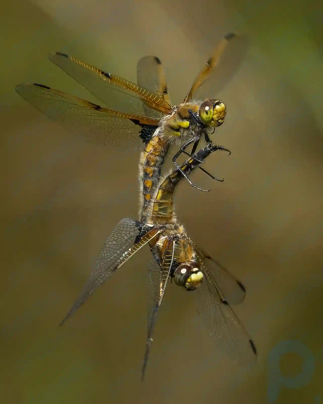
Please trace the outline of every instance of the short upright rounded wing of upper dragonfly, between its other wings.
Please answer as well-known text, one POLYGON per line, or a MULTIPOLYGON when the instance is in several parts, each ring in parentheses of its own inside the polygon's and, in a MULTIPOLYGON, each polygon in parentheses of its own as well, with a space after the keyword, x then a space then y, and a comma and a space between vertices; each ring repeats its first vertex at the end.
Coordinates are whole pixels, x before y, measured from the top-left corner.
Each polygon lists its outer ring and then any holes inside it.
MULTIPOLYGON (((170 97, 164 74, 164 69, 157 56, 144 56, 137 63, 137 83, 153 94, 159 95, 168 105, 171 105, 170 97)), ((145 115, 159 119, 161 112, 152 110, 149 104, 143 101, 145 115)))

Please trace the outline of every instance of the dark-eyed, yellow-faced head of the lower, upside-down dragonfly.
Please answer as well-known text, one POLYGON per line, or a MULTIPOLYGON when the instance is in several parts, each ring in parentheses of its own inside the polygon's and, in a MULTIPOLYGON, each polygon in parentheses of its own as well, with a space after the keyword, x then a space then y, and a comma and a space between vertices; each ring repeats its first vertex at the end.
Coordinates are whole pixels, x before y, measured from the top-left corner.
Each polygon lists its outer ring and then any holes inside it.
POLYGON ((180 263, 174 272, 174 282, 186 290, 195 290, 203 281, 203 272, 199 263, 187 261, 180 263))

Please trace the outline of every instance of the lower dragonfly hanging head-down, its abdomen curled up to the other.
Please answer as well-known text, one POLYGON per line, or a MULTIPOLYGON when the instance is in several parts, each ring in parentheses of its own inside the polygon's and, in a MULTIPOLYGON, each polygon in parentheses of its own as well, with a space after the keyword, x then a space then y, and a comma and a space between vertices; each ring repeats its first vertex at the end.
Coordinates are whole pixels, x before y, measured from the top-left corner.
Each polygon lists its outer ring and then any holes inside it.
POLYGON ((256 362, 256 347, 230 305, 245 298, 245 288, 220 263, 212 259, 187 236, 184 226, 174 215, 173 195, 183 177, 217 150, 227 151, 212 142, 197 151, 159 183, 157 196, 151 205, 151 215, 145 223, 124 218, 105 241, 94 269, 78 299, 61 324, 69 318, 107 278, 146 244, 153 260, 149 266, 149 318, 142 380, 153 341, 157 312, 168 279, 187 291, 195 291, 197 311, 220 351, 233 362, 250 366, 256 362))

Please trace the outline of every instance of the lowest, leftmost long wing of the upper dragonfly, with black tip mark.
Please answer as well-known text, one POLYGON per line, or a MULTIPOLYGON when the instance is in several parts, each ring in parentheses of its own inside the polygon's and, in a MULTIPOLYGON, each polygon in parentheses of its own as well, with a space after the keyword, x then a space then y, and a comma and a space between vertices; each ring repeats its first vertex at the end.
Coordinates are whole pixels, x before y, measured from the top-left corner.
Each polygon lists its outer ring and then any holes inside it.
POLYGON ((156 119, 117 112, 42 84, 19 84, 16 91, 70 132, 101 146, 139 148, 141 125, 158 125, 156 119))

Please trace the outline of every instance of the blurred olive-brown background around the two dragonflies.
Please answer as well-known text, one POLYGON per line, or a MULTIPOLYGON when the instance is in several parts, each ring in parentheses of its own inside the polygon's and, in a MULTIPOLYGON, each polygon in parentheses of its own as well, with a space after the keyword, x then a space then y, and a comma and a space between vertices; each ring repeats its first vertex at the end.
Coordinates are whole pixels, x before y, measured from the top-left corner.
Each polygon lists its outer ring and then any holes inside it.
MULTIPOLYGON (((309 0, 6 0, 1 5, 1 402, 266 403, 268 353, 297 339, 315 356, 300 389, 277 403, 320 402, 322 389, 322 2, 309 0), (235 309, 258 349, 242 371, 217 356, 194 296, 166 290, 147 377, 140 381, 149 250, 141 250, 64 327, 117 221, 137 217, 138 153, 71 137, 19 98, 39 82, 96 101, 46 55, 60 50, 136 80, 136 62, 157 55, 173 103, 224 34, 252 43, 218 97, 227 103, 213 155, 179 186, 189 236, 247 287, 235 309)), ((296 377, 302 360, 277 369, 296 377)))

